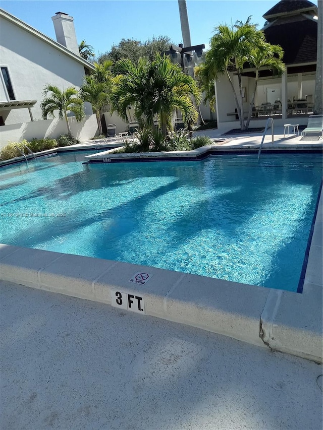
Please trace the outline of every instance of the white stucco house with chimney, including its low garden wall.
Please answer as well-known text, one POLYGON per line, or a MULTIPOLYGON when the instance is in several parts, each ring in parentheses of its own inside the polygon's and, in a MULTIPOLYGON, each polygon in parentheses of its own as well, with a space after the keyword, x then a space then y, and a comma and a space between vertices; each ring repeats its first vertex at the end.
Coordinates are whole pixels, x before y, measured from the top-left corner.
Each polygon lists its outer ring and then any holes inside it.
MULTIPOLYGON (((42 118, 40 103, 43 100, 43 89, 47 84, 56 85, 60 89, 69 86, 79 89, 84 75, 94 70, 93 65, 79 54, 73 18, 58 12, 52 17, 52 21, 60 43, 0 9, 1 146, 6 144, 6 140, 17 141, 18 137, 44 137, 44 130, 46 136, 52 137, 66 133, 64 125, 63 129, 59 130, 62 128, 62 124, 59 124, 62 121, 41 121, 48 122, 47 128, 46 124, 37 124, 42 118)), ((88 131, 88 137, 92 137, 96 131, 96 120, 89 116, 92 116, 92 108, 88 103, 85 105, 85 113, 85 120, 77 126, 78 138, 81 129, 84 133, 84 127, 91 129, 88 131)), ((73 118, 71 126, 72 129, 73 126, 76 127, 73 118)))

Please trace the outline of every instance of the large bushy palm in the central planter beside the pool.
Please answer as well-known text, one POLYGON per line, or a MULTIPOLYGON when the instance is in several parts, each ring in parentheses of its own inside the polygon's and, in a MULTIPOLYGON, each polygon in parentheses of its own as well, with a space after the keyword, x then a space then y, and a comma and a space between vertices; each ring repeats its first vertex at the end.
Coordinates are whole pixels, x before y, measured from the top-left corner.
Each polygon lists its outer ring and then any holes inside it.
POLYGON ((138 64, 129 59, 121 59, 115 65, 119 74, 112 90, 112 110, 125 121, 128 106, 134 107, 136 121, 153 127, 155 116, 164 136, 172 129, 173 113, 179 109, 185 122, 194 123, 198 114, 190 98, 197 102, 200 92, 193 78, 183 73, 178 65, 173 65, 166 56, 155 54, 152 62, 140 58, 138 64))

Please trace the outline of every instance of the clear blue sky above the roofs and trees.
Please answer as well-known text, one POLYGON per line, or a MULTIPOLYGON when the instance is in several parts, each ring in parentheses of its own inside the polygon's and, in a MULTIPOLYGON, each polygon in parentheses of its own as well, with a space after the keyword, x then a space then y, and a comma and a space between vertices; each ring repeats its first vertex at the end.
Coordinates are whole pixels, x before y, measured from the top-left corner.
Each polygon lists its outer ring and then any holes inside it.
MULTIPOLYGON (((187 0, 192 45, 207 47, 218 24, 237 20, 252 22, 261 28, 262 15, 279 0, 187 0)), ((317 5, 317 0, 312 1, 317 5)), ((182 43, 177 0, 0 0, 0 7, 50 38, 56 40, 51 17, 65 12, 74 18, 78 42, 82 39, 99 55, 118 44, 122 38, 145 41, 153 36, 169 36, 182 43)))

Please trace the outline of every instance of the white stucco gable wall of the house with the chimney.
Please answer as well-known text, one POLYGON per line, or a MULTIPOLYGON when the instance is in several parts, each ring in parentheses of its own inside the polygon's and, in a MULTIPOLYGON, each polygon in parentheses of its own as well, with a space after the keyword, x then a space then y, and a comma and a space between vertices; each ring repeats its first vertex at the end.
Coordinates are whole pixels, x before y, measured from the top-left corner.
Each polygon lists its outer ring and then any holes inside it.
MULTIPOLYGON (((1 18, 0 64, 8 67, 16 100, 37 100, 32 107, 34 119, 41 119, 40 103, 45 85, 53 84, 60 89, 69 86, 80 88, 85 74, 82 64, 28 33, 15 24, 1 18)), ((1 76, 0 101, 9 100, 1 76)), ((92 113, 86 104, 85 112, 92 113)), ((1 113, 0 113, 1 114, 1 113)), ((30 121, 28 109, 13 109, 6 125, 30 121)))

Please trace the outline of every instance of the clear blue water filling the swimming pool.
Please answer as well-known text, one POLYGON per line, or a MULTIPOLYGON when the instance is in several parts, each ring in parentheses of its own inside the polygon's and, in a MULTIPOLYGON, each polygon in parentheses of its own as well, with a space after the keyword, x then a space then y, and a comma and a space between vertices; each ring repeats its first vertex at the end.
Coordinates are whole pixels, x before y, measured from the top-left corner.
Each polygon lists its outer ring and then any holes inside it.
MULTIPOLYGON (((91 151, 90 153, 92 153, 91 151)), ((0 169, 0 242, 297 290, 322 175, 317 154, 0 169)))

